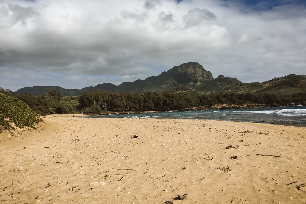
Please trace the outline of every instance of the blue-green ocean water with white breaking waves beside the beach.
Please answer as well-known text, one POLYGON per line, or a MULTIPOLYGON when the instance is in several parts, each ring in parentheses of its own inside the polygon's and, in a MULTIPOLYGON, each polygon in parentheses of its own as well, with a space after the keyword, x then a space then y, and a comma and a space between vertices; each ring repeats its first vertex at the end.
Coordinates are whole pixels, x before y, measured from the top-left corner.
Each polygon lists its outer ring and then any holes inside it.
POLYGON ((306 106, 286 106, 250 109, 202 110, 185 112, 133 113, 104 116, 102 118, 167 118, 237 121, 306 127, 306 106))

